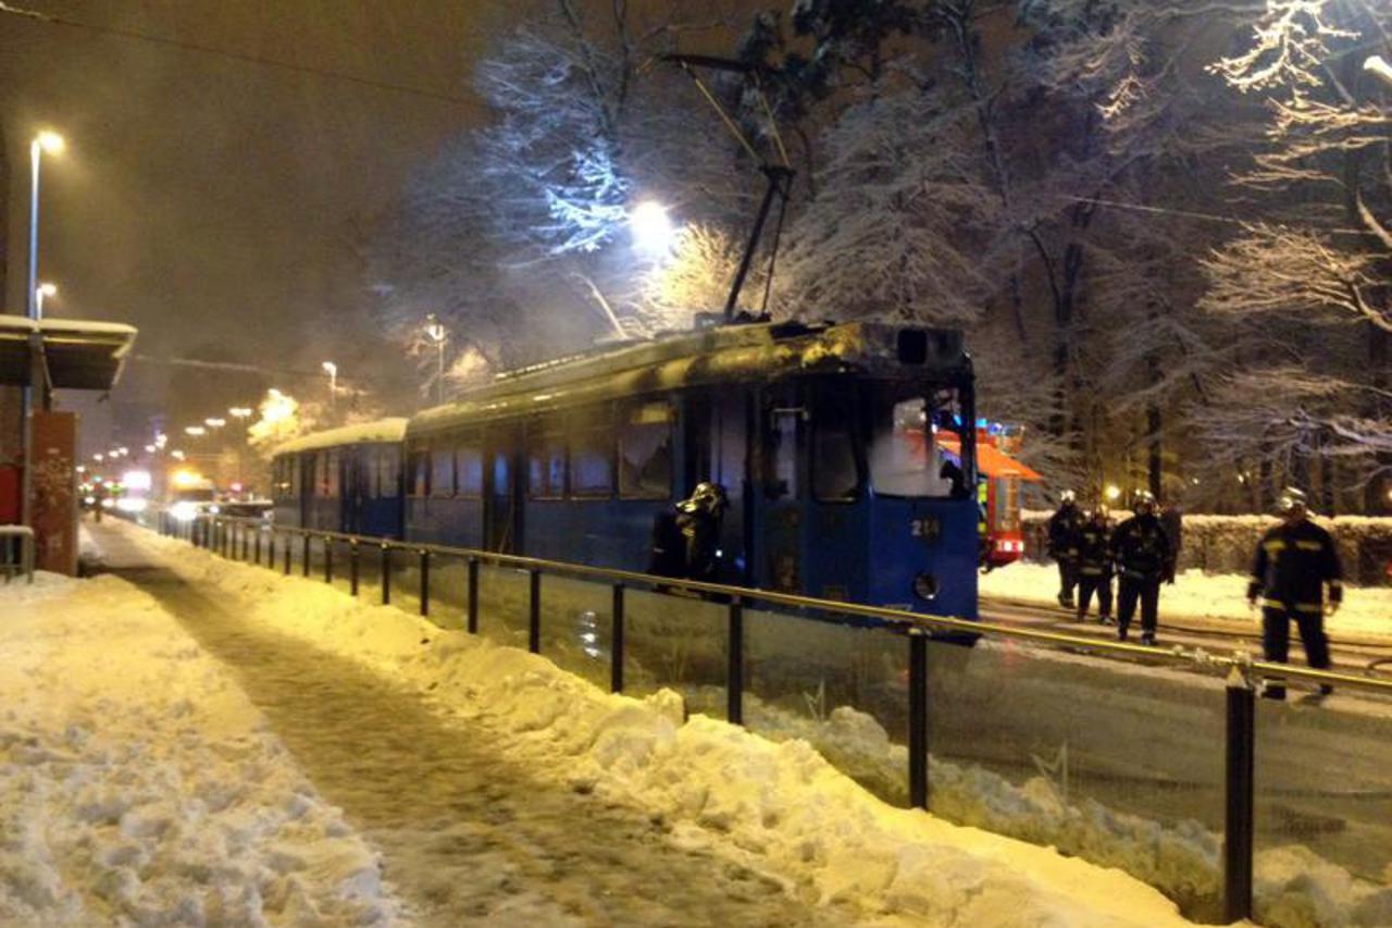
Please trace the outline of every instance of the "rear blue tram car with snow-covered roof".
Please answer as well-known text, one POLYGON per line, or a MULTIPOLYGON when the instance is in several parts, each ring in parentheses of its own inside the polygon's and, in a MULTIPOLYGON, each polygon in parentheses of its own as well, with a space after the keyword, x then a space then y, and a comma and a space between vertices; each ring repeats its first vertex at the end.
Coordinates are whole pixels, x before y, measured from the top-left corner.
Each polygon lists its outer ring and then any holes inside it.
POLYGON ((287 442, 271 460, 280 525, 402 538, 406 419, 347 425, 287 442))

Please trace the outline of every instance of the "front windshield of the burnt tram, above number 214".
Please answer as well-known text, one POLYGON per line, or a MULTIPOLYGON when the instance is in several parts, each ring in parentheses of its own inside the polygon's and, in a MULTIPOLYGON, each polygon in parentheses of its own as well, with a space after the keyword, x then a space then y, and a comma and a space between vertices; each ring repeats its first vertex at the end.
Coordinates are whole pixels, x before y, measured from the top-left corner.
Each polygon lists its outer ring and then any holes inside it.
POLYGON ((870 481, 880 496, 963 496, 962 415, 955 390, 887 397, 876 408, 870 481))

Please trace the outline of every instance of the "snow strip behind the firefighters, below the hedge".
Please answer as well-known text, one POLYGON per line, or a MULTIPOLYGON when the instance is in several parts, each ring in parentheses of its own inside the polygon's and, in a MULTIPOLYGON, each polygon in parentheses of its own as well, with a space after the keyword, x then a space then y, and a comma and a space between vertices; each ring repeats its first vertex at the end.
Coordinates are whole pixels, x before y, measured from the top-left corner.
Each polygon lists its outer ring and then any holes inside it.
MULTIPOLYGON (((1058 603, 1058 566, 1016 562, 980 578, 983 596, 1058 603)), ((1334 634, 1392 638, 1392 587, 1347 587, 1343 606, 1325 619, 1334 634)), ((1096 614, 1097 605, 1093 605, 1096 614)), ((1180 573, 1160 589, 1160 621, 1208 619, 1240 624, 1260 635, 1261 617, 1247 608, 1247 578, 1239 574, 1180 573)))

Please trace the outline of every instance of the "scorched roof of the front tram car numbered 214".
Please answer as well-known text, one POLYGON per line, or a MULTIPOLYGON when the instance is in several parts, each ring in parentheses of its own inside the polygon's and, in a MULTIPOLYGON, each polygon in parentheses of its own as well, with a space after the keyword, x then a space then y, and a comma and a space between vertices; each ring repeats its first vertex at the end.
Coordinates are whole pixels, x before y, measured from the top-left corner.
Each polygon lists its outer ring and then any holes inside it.
POLYGON ((741 323, 697 329, 500 375, 461 400, 418 412, 408 436, 711 383, 809 373, 960 376, 962 333, 871 322, 741 323))

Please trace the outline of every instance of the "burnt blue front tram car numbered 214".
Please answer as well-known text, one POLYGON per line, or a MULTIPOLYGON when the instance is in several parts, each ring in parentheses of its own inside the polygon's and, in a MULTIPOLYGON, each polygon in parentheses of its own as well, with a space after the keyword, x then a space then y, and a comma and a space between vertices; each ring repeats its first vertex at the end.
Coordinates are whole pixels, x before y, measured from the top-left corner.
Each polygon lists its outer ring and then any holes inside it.
MULTIPOLYGON (((974 422, 958 332, 699 329, 509 372, 412 417, 402 529, 642 571, 654 520, 709 481, 729 502, 715 581, 974 617, 974 422)), ((294 451, 298 472, 331 436, 294 451)), ((340 467, 362 447, 340 447, 340 467)), ((287 488, 296 524, 356 509, 306 486, 287 488)))

